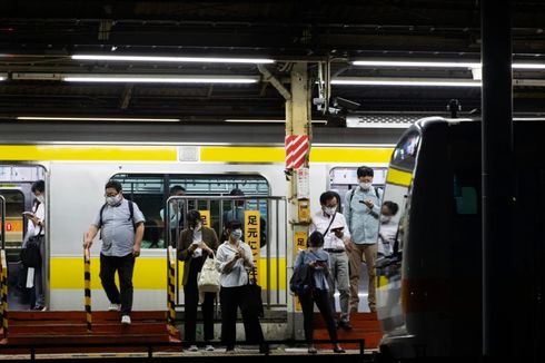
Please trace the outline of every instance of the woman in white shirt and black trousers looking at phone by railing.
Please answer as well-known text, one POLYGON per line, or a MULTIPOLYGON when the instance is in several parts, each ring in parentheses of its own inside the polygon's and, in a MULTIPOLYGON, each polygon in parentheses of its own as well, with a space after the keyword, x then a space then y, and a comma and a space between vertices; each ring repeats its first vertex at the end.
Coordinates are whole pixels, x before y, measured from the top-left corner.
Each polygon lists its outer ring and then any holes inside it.
MULTIPOLYGON (((219 293, 221 303, 221 342, 226 351, 235 350, 237 312, 242 313, 246 341, 262 343, 264 335, 259 317, 256 313, 242 308, 247 298, 248 271, 254 267, 251 249, 241 241, 242 229, 240 222, 234 219, 227 223, 228 241, 218 248, 216 266, 221 273, 219 293)), ((264 346, 260 345, 260 351, 264 346)))

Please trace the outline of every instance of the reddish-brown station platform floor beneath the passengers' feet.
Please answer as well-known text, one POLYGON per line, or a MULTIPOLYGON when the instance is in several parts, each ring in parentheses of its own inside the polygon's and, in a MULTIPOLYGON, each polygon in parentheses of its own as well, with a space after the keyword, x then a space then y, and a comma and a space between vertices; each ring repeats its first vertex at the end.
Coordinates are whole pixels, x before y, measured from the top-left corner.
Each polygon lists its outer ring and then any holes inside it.
MULTIPOLYGON (((132 324, 122 325, 117 312, 93 312, 92 331, 87 330, 85 312, 11 312, 8 337, 0 341, 1 361, 66 361, 91 360, 175 360, 190 361, 211 359, 237 361, 259 356, 266 360, 284 360, 288 356, 311 357, 313 362, 335 355, 343 361, 361 362, 376 351, 380 336, 375 314, 351 315, 354 328, 338 330, 345 354, 333 353, 327 330, 316 314, 315 340, 318 353, 308 354, 304 342, 267 341, 267 350, 241 342, 235 351, 226 352, 218 342, 215 351, 200 346, 190 352, 184 346, 180 333, 166 324, 166 312, 133 312, 132 324), (365 347, 361 350, 361 347, 365 347)), ((1 332, 3 335, 3 332, 1 332)))

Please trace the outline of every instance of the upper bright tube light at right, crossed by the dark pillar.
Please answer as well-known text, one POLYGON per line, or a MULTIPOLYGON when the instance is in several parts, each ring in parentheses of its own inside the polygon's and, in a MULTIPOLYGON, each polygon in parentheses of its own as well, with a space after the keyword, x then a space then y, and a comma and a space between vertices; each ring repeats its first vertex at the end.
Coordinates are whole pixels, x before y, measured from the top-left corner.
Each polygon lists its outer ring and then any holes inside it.
MULTIPOLYGON (((355 60, 364 67, 429 67, 429 68, 482 68, 480 61, 426 61, 426 60, 355 60)), ((513 69, 545 69, 545 63, 512 63, 513 69)))

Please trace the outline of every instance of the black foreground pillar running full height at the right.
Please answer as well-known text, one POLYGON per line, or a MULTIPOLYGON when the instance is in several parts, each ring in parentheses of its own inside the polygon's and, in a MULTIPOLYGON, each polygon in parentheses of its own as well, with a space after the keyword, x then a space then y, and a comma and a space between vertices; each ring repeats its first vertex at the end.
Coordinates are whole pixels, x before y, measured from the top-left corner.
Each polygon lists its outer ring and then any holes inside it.
POLYGON ((509 1, 482 1, 483 354, 513 359, 517 306, 514 245, 513 90, 509 1))

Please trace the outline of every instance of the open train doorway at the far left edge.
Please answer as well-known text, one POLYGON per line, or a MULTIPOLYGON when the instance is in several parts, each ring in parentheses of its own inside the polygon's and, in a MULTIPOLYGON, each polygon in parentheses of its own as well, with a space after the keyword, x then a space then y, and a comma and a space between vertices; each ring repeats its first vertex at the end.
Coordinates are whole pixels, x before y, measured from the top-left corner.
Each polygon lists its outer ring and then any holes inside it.
MULTIPOLYGON (((37 180, 44 180, 44 177, 46 170, 41 166, 0 165, 0 195, 6 200, 6 215, 1 228, 4 230, 4 236, 2 236, 1 248, 6 251, 8 263, 8 306, 11 311, 30 310, 36 303, 33 287, 27 287, 32 285, 33 281, 32 284, 27 283, 28 269, 22 266, 20 254, 29 223, 23 212, 32 212, 34 202, 32 185, 37 180)), ((48 255, 46 251, 44 256, 48 255)), ((47 265, 46 258, 42 264, 42 276, 47 276, 44 273, 47 265)), ((43 286, 47 292, 47 278, 43 286)))

